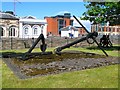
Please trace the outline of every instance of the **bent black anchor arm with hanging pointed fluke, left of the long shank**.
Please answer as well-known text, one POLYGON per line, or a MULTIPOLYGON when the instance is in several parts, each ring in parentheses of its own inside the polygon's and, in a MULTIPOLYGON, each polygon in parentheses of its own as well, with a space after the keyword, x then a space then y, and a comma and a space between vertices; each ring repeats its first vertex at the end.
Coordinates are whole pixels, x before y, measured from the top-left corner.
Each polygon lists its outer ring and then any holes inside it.
POLYGON ((39 37, 36 39, 36 41, 33 43, 32 47, 26 52, 24 53, 24 55, 22 56, 22 60, 27 60, 32 52, 32 50, 35 48, 35 46, 37 45, 37 43, 39 41, 42 41, 42 44, 40 45, 40 49, 42 51, 42 53, 45 52, 46 48, 47 48, 47 44, 45 44, 45 38, 44 38, 44 35, 43 34, 40 34, 39 37))

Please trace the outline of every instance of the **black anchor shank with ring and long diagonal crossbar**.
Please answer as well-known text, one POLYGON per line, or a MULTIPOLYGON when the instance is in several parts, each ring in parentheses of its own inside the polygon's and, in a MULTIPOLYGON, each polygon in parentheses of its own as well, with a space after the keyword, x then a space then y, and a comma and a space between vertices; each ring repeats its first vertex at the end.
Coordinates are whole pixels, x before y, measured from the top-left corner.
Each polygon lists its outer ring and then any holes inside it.
POLYGON ((106 56, 108 56, 108 54, 104 51, 104 49, 103 49, 103 48, 99 45, 99 43, 96 41, 96 37, 98 36, 98 33, 97 33, 97 32, 92 32, 92 33, 90 33, 74 15, 73 15, 73 17, 77 20, 77 22, 78 22, 78 23, 84 28, 84 30, 88 33, 87 36, 86 36, 86 37, 83 37, 83 38, 81 38, 81 39, 78 39, 78 40, 76 40, 76 41, 74 41, 74 42, 71 42, 71 43, 69 43, 69 44, 67 44, 67 45, 64 45, 64 46, 61 46, 61 47, 57 47, 57 48, 54 50, 54 52, 55 52, 56 54, 60 54, 60 51, 62 51, 63 49, 69 48, 70 46, 73 46, 73 45, 75 45, 75 44, 77 44, 77 43, 79 43, 79 42, 82 42, 82 41, 87 40, 87 42, 88 42, 89 44, 92 44, 92 43, 95 42, 95 43, 98 45, 98 47, 103 51, 103 53, 104 53, 106 56), (88 39, 92 39, 93 42, 89 42, 88 39))

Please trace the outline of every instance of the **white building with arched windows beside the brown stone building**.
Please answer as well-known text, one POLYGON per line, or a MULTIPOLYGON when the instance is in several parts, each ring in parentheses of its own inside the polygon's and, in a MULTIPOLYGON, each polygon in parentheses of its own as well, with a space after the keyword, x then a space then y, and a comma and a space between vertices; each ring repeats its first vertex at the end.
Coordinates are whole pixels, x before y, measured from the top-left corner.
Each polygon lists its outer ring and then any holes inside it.
POLYGON ((41 33, 47 37, 47 21, 33 16, 20 18, 19 38, 37 38, 41 33))

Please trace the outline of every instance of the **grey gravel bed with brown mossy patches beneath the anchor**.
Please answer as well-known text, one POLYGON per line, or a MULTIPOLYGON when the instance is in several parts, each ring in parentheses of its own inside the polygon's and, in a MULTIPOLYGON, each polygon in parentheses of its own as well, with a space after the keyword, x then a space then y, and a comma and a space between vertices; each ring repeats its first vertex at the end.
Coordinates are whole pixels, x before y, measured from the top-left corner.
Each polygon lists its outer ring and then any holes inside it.
POLYGON ((78 51, 66 51, 61 53, 61 56, 37 56, 27 61, 20 61, 17 58, 3 58, 3 61, 20 79, 119 64, 117 57, 78 51))

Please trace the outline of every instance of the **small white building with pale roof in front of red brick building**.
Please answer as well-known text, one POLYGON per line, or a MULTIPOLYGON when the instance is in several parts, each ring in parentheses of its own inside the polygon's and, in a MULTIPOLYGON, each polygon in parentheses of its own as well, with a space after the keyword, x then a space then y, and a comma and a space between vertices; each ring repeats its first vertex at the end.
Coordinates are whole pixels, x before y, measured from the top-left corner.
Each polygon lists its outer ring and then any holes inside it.
POLYGON ((73 26, 61 28, 61 37, 70 37, 70 34, 72 34, 73 37, 78 37, 78 29, 73 26))

